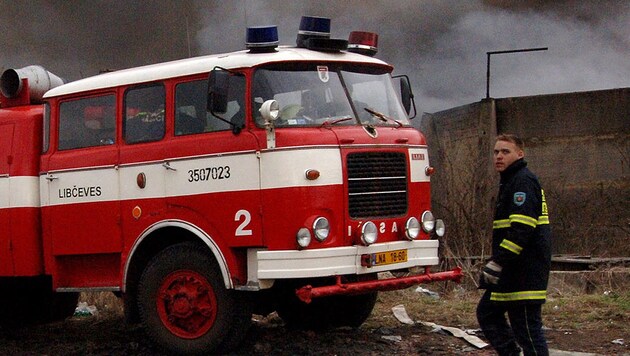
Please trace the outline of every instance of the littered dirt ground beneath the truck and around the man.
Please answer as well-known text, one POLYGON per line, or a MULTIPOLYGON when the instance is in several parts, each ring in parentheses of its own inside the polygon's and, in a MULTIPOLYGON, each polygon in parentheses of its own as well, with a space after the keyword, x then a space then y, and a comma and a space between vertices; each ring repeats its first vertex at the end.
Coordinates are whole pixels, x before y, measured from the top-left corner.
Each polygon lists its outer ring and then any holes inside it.
MULTIPOLYGON (((426 286, 425 288, 432 288, 426 286)), ((630 355, 630 301, 622 295, 552 297, 543 318, 551 349, 601 355, 630 355), (614 342, 613 342, 614 341, 614 342)), ((1 355, 161 355, 137 326, 124 323, 115 298, 94 299, 96 315, 22 329, 0 328, 1 355)), ((476 329, 477 291, 451 292, 439 298, 410 288, 379 295, 377 306, 360 328, 327 332, 287 329, 275 314, 254 316, 243 345, 234 355, 494 355, 420 323, 407 325, 391 308, 404 305, 414 321, 476 329)), ((477 334, 483 339, 483 335, 477 334)))

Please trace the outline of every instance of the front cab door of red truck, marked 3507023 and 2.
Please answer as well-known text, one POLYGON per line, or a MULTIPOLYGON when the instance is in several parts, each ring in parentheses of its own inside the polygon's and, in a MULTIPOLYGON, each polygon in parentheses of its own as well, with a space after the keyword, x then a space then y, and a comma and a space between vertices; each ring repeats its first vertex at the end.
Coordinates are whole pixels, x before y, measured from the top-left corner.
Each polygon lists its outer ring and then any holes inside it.
POLYGON ((244 129, 245 77, 228 80, 216 116, 207 110, 207 77, 175 86, 175 138, 168 151, 181 158, 169 162, 164 182, 169 206, 191 214, 212 239, 251 246, 262 241, 259 147, 244 129))

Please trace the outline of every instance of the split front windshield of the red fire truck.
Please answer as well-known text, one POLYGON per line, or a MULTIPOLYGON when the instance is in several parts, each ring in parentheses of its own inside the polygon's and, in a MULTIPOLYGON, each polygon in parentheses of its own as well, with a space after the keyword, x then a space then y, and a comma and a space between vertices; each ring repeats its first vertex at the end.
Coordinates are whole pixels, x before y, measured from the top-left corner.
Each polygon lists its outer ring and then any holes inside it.
POLYGON ((357 64, 293 64, 264 67, 254 74, 252 100, 258 109, 276 100, 276 127, 321 125, 401 126, 409 124, 385 68, 357 64))

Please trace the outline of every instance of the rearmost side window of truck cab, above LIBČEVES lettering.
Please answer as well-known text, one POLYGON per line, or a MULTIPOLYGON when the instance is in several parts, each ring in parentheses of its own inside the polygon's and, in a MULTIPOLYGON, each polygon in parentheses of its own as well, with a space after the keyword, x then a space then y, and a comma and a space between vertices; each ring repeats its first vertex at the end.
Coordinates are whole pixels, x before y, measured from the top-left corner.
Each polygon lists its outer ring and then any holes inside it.
POLYGON ((115 142, 116 97, 113 94, 65 101, 59 105, 59 150, 115 142))

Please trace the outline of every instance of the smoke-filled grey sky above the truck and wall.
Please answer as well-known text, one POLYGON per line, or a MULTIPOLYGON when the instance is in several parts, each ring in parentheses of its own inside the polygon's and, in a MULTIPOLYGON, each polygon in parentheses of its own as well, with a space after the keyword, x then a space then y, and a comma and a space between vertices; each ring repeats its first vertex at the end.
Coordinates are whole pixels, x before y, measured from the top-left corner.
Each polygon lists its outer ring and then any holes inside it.
POLYGON ((379 34, 377 57, 412 80, 419 111, 492 97, 630 86, 630 1, 586 0, 0 0, 0 69, 39 64, 68 80, 244 49, 247 26, 278 25, 295 44, 302 15, 332 37, 379 34))

